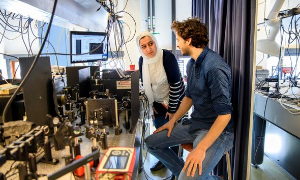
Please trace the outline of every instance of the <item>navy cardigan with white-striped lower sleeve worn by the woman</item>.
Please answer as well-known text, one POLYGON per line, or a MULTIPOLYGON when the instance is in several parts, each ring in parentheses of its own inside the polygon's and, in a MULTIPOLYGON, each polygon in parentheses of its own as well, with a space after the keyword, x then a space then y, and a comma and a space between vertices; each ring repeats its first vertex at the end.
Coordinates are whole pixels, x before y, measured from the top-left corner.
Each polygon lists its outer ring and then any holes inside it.
MULTIPOLYGON (((143 82, 142 65, 143 57, 139 58, 140 78, 143 82)), ((169 91, 169 113, 175 113, 179 107, 180 102, 185 97, 185 85, 182 74, 179 70, 176 57, 168 50, 163 49, 163 66, 166 71, 170 91, 169 91)), ((157 103, 154 103, 154 105, 157 103)), ((156 109, 160 111, 159 109, 156 109)), ((159 112, 160 113, 160 112, 159 112)))

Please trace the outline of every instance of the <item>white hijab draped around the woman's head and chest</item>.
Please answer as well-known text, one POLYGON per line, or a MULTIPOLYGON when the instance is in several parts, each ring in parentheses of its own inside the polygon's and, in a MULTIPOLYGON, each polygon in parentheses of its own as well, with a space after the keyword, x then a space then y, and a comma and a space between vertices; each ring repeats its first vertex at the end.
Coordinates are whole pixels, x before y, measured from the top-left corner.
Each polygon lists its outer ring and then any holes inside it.
MULTIPOLYGON (((163 50, 158 47, 158 43, 157 43, 156 38, 149 32, 140 33, 136 38, 136 44, 138 46, 138 50, 139 50, 141 56, 143 57, 142 74, 143 74, 143 86, 145 88, 145 95, 147 96, 149 104, 152 107, 153 102, 154 102, 154 96, 153 96, 153 91, 152 91, 152 87, 151 87, 151 78, 150 78, 150 73, 149 73, 149 65, 162 63, 162 61, 163 61, 163 50), (154 57, 147 57, 141 51, 139 41, 140 41, 140 39, 142 39, 145 36, 150 37, 155 42, 157 52, 156 52, 154 57)), ((161 72, 161 75, 159 75, 159 77, 161 79, 165 79, 167 75, 166 75, 164 67, 163 66, 157 66, 157 67, 162 68, 162 70, 157 70, 157 72, 161 72)), ((152 110, 152 108, 150 108, 150 109, 152 110)))

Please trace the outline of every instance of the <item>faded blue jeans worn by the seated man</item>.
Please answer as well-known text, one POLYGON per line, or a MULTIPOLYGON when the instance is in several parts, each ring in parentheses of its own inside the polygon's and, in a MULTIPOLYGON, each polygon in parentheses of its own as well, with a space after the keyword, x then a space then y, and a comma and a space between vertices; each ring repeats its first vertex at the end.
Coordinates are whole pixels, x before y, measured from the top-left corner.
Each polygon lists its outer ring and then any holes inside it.
POLYGON ((187 177, 186 173, 182 172, 184 162, 169 147, 193 143, 195 148, 208 130, 198 130, 190 134, 190 126, 191 124, 186 126, 181 123, 175 124, 170 137, 167 137, 167 130, 148 136, 145 139, 145 143, 149 153, 159 159, 178 179, 221 179, 217 176, 210 176, 209 172, 214 169, 225 152, 229 151, 233 146, 233 133, 222 132, 219 138, 206 151, 202 162, 202 174, 198 175, 197 168, 194 177, 191 175, 187 177))

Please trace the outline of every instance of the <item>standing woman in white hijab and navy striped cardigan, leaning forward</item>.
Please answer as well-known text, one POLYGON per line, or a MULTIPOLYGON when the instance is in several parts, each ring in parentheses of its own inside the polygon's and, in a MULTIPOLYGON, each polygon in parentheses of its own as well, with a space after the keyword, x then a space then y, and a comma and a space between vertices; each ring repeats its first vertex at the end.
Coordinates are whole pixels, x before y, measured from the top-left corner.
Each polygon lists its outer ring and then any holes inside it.
MULTIPOLYGON (((185 96, 184 81, 179 71, 176 57, 168 50, 161 49, 157 40, 149 32, 142 32, 136 38, 141 54, 139 58, 140 78, 148 98, 156 128, 173 117, 185 96)), ((177 153, 178 146, 171 147, 177 153)), ((164 167, 159 161, 151 171, 164 167)))

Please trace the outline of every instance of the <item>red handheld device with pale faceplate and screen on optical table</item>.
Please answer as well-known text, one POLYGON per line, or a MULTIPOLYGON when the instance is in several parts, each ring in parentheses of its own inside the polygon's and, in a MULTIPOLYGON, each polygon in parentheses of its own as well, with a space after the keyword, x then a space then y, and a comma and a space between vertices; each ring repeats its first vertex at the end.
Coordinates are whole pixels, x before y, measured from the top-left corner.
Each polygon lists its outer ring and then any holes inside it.
POLYGON ((109 147, 97 170, 97 179, 130 180, 135 164, 135 148, 109 147))

